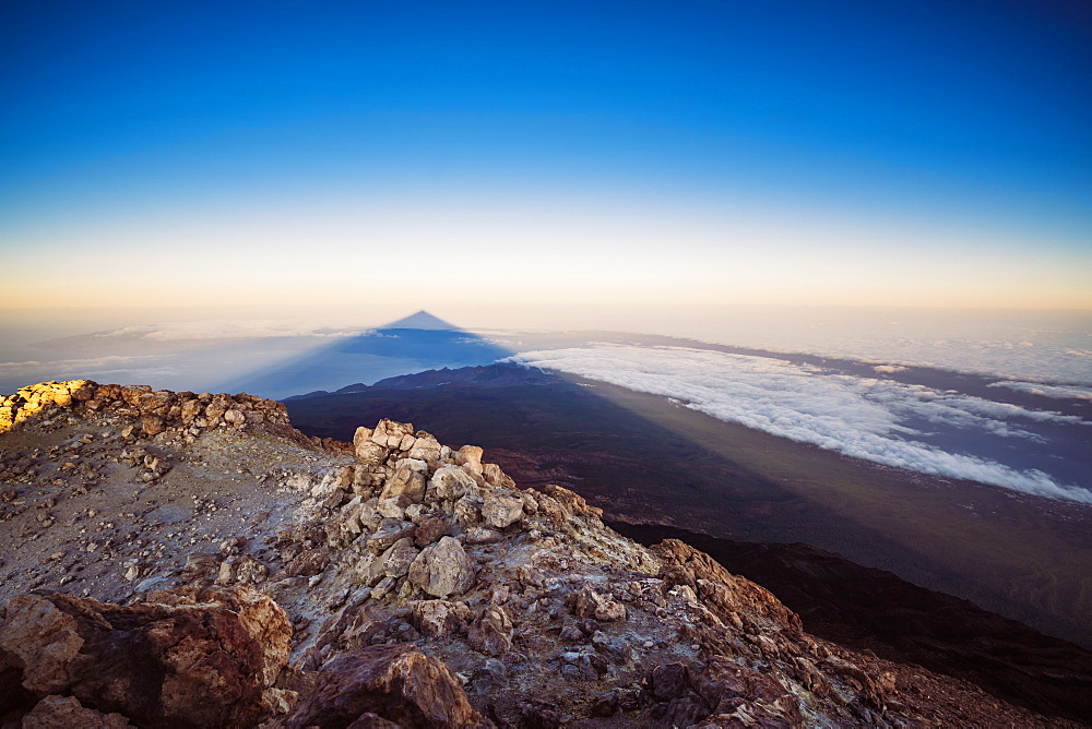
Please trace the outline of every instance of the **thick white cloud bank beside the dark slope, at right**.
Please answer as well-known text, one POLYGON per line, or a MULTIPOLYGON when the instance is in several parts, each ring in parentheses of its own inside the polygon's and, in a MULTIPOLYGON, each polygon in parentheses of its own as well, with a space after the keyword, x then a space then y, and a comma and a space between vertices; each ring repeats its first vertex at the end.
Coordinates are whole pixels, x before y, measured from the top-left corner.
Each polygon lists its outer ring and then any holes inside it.
POLYGON ((1042 440, 1020 421, 1092 425, 1075 416, 705 349, 598 345, 524 351, 513 360, 672 397, 721 420, 856 458, 1092 503, 1088 488, 1057 483, 1041 470, 946 452, 913 440, 922 433, 907 425, 924 421, 1042 440))

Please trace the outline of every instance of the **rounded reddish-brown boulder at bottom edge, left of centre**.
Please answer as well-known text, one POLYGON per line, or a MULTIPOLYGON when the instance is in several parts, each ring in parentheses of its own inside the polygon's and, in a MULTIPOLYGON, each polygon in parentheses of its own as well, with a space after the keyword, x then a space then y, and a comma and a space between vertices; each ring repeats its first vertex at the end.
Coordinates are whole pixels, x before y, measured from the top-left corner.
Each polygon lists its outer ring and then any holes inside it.
POLYGON ((327 664, 314 693, 296 708, 288 729, 341 729, 373 714, 404 729, 412 727, 492 727, 471 708, 447 666, 414 645, 375 645, 327 664))

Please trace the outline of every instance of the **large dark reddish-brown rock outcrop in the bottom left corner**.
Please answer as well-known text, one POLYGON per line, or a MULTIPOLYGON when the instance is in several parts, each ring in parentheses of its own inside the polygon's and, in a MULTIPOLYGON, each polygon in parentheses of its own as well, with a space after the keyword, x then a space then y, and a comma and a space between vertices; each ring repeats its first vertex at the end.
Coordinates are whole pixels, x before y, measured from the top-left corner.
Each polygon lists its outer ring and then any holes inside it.
POLYGON ((284 611, 248 588, 129 607, 20 595, 0 623, 0 694, 21 696, 40 721, 95 710, 147 727, 254 726, 275 700, 289 635, 284 611))

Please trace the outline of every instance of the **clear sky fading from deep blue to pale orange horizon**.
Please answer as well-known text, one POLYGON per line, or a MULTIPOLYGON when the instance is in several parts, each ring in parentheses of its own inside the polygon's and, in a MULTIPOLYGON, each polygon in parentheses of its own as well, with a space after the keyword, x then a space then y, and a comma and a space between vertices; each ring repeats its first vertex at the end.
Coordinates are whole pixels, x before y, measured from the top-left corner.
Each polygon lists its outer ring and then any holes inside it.
POLYGON ((0 308, 1092 309, 1084 2, 4 2, 0 308))

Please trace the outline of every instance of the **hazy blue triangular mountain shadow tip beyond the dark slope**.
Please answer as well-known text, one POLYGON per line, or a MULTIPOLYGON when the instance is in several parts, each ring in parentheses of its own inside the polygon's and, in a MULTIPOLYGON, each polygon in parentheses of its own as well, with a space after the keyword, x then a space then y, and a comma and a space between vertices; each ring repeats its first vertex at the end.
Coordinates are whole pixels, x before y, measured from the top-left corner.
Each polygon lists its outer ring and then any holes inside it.
POLYGON ((418 311, 248 372, 222 383, 219 390, 283 398, 336 391, 349 383, 371 384, 407 372, 491 364, 513 354, 427 311, 418 311))

